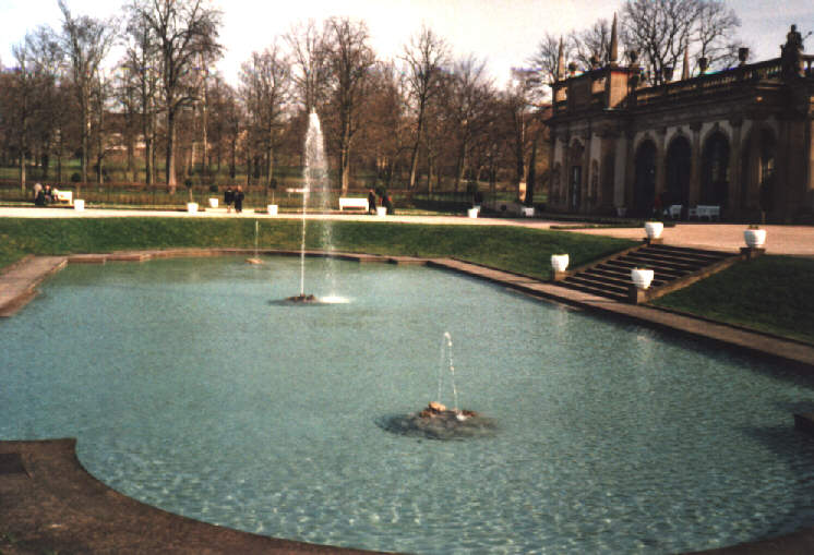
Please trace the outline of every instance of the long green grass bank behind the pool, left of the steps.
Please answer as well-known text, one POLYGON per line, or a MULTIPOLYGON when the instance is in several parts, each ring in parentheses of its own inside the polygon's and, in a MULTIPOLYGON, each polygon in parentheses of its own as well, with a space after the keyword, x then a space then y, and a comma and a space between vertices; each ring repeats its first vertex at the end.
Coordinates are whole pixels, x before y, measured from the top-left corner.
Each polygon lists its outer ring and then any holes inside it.
MULTIPOLYGON (((299 249, 300 222, 260 221, 261 249, 299 249)), ((326 224, 309 221, 307 245, 323 249, 326 224)), ((547 279, 551 254, 566 252, 580 265, 634 244, 564 231, 503 226, 335 221, 337 251, 410 256, 456 256, 547 279)), ((133 249, 252 248, 254 218, 0 219, 0 267, 25 254, 103 253, 133 249)))

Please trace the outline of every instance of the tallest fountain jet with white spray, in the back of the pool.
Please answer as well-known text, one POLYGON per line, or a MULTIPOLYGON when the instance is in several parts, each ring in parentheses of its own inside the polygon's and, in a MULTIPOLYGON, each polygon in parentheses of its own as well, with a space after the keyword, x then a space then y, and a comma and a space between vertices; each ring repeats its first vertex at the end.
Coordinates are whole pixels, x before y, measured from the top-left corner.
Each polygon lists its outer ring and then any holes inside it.
MULTIPOLYGON (((300 294, 289 297, 286 301, 295 303, 319 303, 322 302, 315 294, 306 294, 306 229, 308 224, 308 200, 311 191, 320 193, 321 205, 324 209, 330 196, 327 186, 327 159, 325 158, 325 142, 322 136, 320 117, 315 110, 311 110, 308 119, 308 132, 306 133, 304 168, 302 170, 302 239, 300 242, 300 294)), ((323 234, 323 245, 330 250, 331 234, 330 226, 324 226, 327 231, 323 234)), ((332 295, 334 298, 334 295, 332 295)))

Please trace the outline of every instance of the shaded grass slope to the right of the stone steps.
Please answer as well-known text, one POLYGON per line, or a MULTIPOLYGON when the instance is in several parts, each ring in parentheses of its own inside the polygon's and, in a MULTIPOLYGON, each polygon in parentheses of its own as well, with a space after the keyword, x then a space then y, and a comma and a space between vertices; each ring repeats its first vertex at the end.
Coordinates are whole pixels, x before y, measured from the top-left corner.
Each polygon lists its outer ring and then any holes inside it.
POLYGON ((741 262, 653 304, 814 343, 814 258, 741 262))

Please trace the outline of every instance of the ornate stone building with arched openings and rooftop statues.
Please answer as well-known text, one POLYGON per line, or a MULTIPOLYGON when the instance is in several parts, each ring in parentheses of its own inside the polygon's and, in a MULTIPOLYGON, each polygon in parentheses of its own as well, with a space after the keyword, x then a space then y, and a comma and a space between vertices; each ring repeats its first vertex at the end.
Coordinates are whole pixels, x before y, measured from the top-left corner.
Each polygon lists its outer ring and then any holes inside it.
MULTIPOLYGON (((562 47, 561 47, 562 48, 562 47)), ((777 59, 645 84, 635 52, 583 73, 562 49, 552 85, 552 212, 647 217, 719 213, 730 221, 814 218, 814 56, 792 25, 777 59), (679 208, 680 206, 680 208, 679 208), (698 207, 702 207, 698 209, 698 207), (711 208, 711 210, 710 210, 711 208)))

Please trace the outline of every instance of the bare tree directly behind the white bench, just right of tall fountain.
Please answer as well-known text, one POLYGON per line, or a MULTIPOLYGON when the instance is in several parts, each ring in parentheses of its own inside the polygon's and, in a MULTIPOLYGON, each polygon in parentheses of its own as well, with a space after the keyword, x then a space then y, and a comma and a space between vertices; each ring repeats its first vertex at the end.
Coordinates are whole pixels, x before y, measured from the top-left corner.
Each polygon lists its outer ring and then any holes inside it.
POLYGON ((339 120, 339 174, 342 193, 346 194, 350 185, 351 148, 362 121, 360 112, 370 83, 368 72, 375 63, 375 55, 369 45, 370 35, 364 22, 332 17, 327 21, 327 28, 332 101, 339 120))

